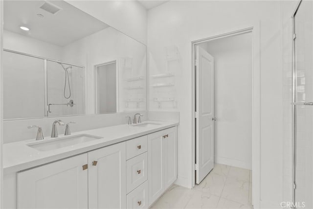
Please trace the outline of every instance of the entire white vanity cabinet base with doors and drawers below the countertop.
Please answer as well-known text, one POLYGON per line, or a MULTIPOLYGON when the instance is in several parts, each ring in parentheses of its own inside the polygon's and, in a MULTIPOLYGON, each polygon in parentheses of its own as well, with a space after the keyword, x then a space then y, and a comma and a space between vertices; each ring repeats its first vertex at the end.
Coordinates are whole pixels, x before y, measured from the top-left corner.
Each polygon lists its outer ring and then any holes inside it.
POLYGON ((4 208, 147 209, 177 179, 177 127, 4 176, 4 208))

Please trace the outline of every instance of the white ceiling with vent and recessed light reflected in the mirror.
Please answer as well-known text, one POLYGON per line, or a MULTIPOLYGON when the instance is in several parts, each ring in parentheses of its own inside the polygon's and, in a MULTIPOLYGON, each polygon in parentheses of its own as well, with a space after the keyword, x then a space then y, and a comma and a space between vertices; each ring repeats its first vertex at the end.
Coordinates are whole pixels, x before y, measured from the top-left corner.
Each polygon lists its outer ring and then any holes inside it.
POLYGON ((63 0, 50 2, 62 10, 51 14, 39 8, 45 3, 44 0, 3 1, 4 29, 57 46, 66 46, 109 27, 63 0), (40 18, 37 14, 44 17, 40 18), (26 26, 30 30, 23 31, 20 26, 26 26))

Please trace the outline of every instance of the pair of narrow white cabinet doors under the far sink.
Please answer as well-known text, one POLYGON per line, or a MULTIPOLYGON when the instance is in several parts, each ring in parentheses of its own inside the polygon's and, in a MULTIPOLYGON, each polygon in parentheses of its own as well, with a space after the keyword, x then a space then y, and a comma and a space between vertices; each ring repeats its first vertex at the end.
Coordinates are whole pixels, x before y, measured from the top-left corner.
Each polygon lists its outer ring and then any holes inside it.
POLYGON ((177 128, 148 135, 149 205, 177 179, 177 128))

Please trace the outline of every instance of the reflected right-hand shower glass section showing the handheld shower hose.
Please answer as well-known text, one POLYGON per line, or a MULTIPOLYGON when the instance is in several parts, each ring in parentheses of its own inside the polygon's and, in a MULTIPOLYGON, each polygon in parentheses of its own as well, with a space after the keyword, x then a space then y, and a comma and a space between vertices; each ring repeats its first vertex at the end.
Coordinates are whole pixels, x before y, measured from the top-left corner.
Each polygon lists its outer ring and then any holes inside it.
POLYGON ((84 68, 47 61, 47 116, 85 114, 84 68))

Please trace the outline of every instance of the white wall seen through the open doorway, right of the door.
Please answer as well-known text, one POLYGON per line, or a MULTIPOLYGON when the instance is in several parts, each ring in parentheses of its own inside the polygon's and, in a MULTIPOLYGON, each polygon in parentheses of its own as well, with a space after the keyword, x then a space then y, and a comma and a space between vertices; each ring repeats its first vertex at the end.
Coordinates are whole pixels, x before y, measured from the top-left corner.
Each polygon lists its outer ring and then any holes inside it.
POLYGON ((214 161, 252 169, 252 33, 200 46, 214 57, 214 161))

